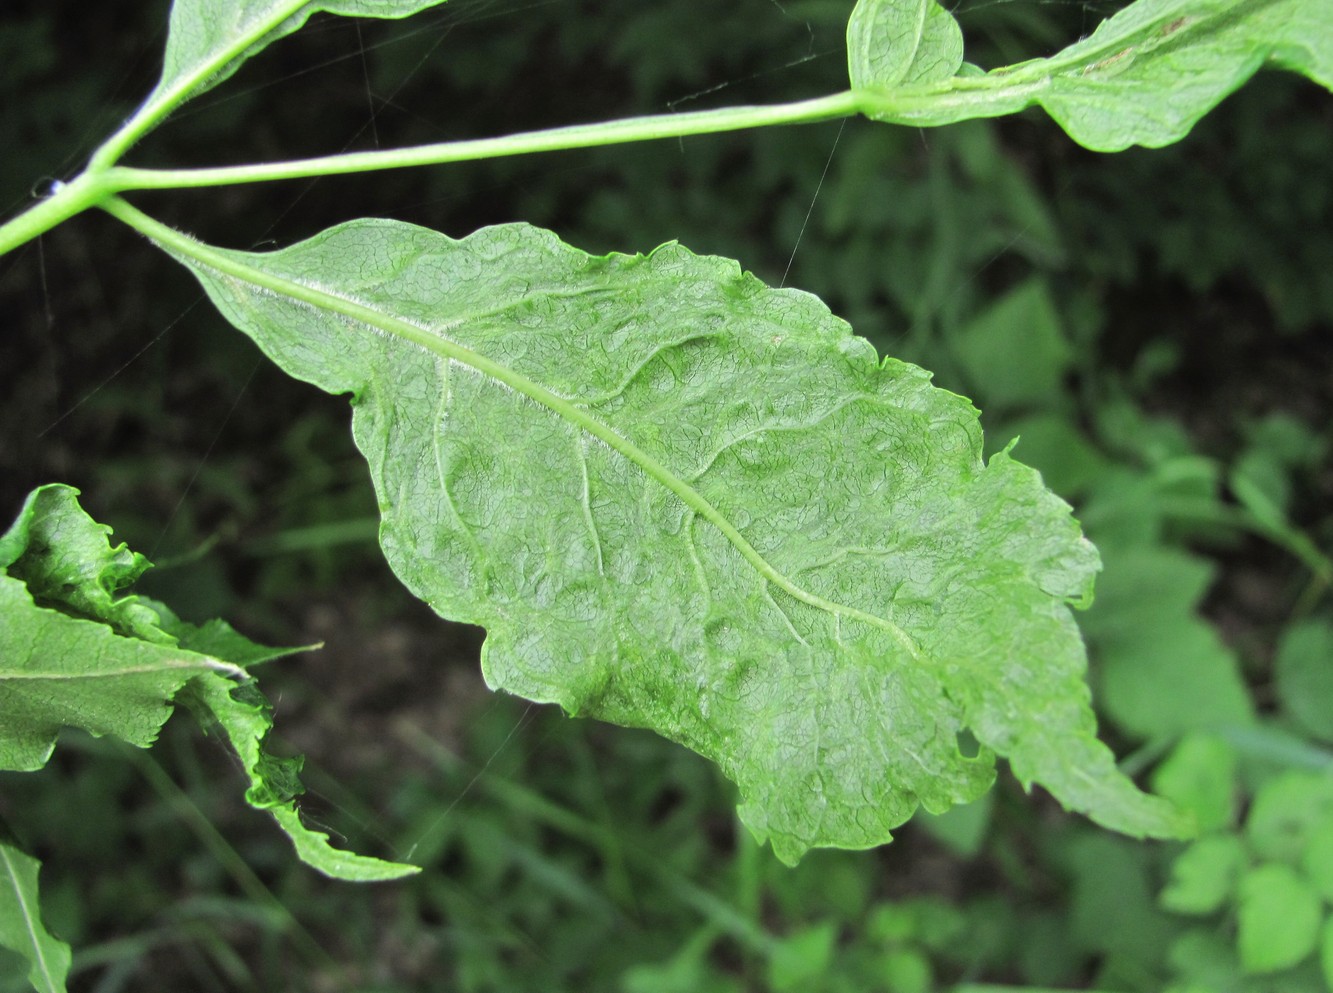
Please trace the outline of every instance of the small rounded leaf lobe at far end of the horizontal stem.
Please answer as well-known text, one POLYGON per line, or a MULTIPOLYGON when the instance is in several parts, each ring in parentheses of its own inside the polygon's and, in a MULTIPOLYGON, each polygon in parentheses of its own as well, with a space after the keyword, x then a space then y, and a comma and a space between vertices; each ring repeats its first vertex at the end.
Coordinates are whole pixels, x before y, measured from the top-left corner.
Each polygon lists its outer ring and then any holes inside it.
POLYGON ((936 0, 860 0, 846 51, 854 89, 937 83, 962 64, 962 29, 936 0))

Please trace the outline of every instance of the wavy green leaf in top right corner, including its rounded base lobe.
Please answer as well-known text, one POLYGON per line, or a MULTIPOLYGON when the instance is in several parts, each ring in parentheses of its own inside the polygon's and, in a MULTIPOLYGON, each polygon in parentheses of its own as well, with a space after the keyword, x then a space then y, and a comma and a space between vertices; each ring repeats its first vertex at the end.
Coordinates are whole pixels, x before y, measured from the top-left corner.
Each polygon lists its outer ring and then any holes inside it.
MULTIPOLYGON (((948 80, 880 73, 885 59, 901 61, 908 52, 913 65, 922 59, 930 65, 944 63, 948 32, 942 27, 916 36, 904 27, 933 5, 926 0, 861 0, 857 5, 848 49, 852 85, 864 93, 866 116, 929 127, 1037 104, 1078 144, 1114 152, 1178 141, 1265 67, 1290 69, 1333 88, 1333 4, 1328 0, 1137 0, 1049 59, 948 80), (866 37, 872 28, 881 29, 882 37, 866 37)), ((938 21, 938 13, 929 15, 922 24, 938 21)))

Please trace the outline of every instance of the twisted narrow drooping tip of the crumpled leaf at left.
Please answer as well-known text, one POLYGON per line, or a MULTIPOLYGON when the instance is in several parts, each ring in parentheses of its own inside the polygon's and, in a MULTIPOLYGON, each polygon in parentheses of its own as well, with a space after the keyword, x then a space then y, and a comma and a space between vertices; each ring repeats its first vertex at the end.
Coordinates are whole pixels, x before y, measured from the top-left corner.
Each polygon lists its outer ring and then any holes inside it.
POLYGON ((273 816, 303 862, 325 876, 356 882, 397 880, 420 872, 415 865, 336 849, 328 844, 327 834, 301 822, 296 809, 296 797, 304 792, 299 778, 301 760, 279 758, 265 750, 264 744, 273 728, 273 708, 253 681, 236 684, 211 673, 189 684, 185 701, 205 724, 216 722, 221 728, 249 778, 247 802, 273 816))

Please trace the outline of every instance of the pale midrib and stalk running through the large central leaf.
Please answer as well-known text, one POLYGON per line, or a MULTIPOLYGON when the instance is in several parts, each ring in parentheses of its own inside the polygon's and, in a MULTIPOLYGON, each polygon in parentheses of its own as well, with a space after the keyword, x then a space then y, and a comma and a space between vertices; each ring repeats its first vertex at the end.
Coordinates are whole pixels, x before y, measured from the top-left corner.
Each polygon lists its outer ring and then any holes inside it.
POLYGON ((702 493, 681 480, 663 463, 657 461, 633 441, 623 435, 619 435, 611 427, 597 420, 587 411, 572 404, 559 393, 552 392, 541 384, 529 380, 527 376, 501 365, 480 352, 473 352, 471 348, 443 337, 437 332, 428 331, 400 317, 385 315, 357 300, 339 296, 328 289, 315 288, 305 283, 275 276, 264 272, 263 269, 248 265, 231 252, 215 249, 211 245, 205 245, 189 237, 188 235, 183 235, 181 232, 159 224, 123 200, 113 200, 107 205, 107 209, 120 220, 137 228, 168 252, 184 256, 197 264, 216 269, 224 276, 248 283, 260 289, 267 289, 272 293, 299 300, 309 304, 311 307, 337 313, 360 324, 377 328, 385 333, 411 341, 412 344, 416 344, 428 352, 433 352, 443 359, 467 365, 483 376, 496 380, 497 383, 503 383, 515 392, 527 396, 537 404, 541 404, 556 416, 605 443, 613 451, 619 452, 627 460, 637 465, 649 479, 670 491, 689 509, 717 528, 732 544, 732 546, 736 548, 742 558, 745 558, 765 580, 782 592, 810 606, 833 614, 841 614, 852 620, 858 620, 864 624, 886 630, 913 657, 921 657, 922 652, 916 641, 905 630, 902 630, 902 628, 892 621, 866 610, 848 606, 846 604, 826 600, 817 593, 810 593, 809 590, 796 585, 796 582, 778 572, 777 568, 764 558, 764 556, 760 554, 760 552, 749 541, 746 541, 745 536, 740 533, 736 525, 732 524, 721 513, 721 510, 713 506, 713 504, 710 504, 702 493))

